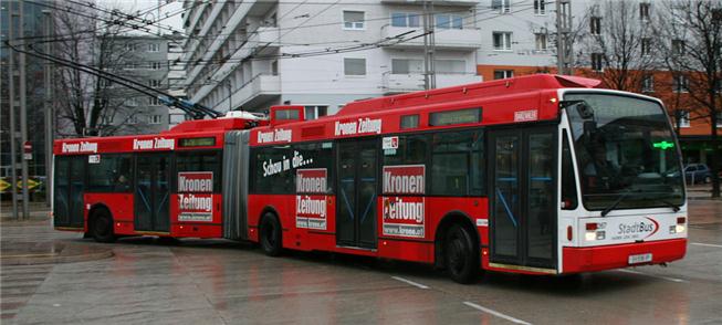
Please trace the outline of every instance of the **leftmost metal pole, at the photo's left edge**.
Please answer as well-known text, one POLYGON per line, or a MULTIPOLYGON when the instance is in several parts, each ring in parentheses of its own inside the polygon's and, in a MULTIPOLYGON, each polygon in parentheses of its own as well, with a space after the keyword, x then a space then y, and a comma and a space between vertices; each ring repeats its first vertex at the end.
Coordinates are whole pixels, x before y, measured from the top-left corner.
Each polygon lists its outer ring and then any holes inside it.
MULTIPOLYGON (((15 33, 13 29, 15 12, 12 10, 12 3, 14 1, 8 1, 8 34, 10 35, 10 43, 14 43, 15 33)), ((20 219, 20 213, 18 213, 18 144, 17 144, 17 134, 15 134, 15 55, 14 51, 8 51, 8 80, 10 86, 8 91, 10 92, 10 190, 12 191, 12 216, 15 219, 20 219)))

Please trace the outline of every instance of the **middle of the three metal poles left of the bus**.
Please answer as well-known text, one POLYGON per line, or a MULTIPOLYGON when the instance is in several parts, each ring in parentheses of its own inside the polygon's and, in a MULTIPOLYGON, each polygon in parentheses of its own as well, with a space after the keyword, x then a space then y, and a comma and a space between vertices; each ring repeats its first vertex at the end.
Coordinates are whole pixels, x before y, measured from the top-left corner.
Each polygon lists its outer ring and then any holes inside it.
MULTIPOLYGON (((20 23, 18 27, 18 32, 21 36, 25 35, 25 27, 24 27, 24 17, 23 17, 23 6, 24 2, 22 0, 19 1, 20 3, 20 23)), ((22 41, 20 44, 20 48, 24 51, 25 50, 25 41, 22 41)), ((27 91, 27 80, 25 80, 25 54, 20 53, 19 54, 19 60, 18 64, 20 64, 19 70, 20 70, 20 143, 24 144, 28 143, 28 103, 27 103, 27 97, 28 97, 28 91, 27 91)), ((23 149, 24 150, 24 149, 23 149)), ((29 201, 29 193, 28 193, 28 160, 23 159, 21 160, 21 167, 22 167, 22 217, 24 219, 30 219, 30 210, 28 206, 29 201)))

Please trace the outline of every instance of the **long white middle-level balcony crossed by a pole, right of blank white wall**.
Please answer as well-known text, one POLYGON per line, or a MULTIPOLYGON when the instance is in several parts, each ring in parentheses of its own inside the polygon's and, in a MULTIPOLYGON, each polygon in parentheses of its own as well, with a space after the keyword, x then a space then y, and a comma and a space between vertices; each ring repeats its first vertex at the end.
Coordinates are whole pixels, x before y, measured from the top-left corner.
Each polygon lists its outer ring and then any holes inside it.
MULTIPOLYGON (((381 28, 383 39, 395 39, 404 34, 402 39, 410 39, 423 33, 423 28, 399 28, 387 24, 381 28)), ((481 31, 478 29, 436 29, 433 34, 435 49, 474 51, 481 48, 481 31)), ((416 38, 388 46, 389 49, 417 49, 423 48, 423 38, 416 38)))

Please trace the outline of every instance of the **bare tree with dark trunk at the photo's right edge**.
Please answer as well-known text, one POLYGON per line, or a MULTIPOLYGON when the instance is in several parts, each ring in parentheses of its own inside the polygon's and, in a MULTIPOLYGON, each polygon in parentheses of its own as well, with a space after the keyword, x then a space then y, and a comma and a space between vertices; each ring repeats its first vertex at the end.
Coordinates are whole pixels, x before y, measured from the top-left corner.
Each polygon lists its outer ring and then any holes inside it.
POLYGON ((722 0, 676 0, 658 10, 657 49, 666 53, 665 64, 695 104, 691 113, 709 120, 712 155, 712 197, 720 197, 722 144, 722 0))

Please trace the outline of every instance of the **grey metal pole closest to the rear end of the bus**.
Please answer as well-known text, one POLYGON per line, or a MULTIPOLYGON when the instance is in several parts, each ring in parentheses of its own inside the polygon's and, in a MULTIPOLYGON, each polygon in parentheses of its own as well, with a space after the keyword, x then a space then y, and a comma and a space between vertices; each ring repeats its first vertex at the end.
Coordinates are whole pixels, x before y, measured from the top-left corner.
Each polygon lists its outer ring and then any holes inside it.
MULTIPOLYGON (((50 10, 43 10, 45 18, 45 38, 52 32, 52 15, 50 10)), ((50 53, 50 42, 45 43, 45 53, 50 53)), ((50 189, 53 186, 53 105, 51 94, 51 62, 45 62, 45 207, 50 207, 52 196, 50 189)))

